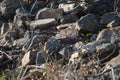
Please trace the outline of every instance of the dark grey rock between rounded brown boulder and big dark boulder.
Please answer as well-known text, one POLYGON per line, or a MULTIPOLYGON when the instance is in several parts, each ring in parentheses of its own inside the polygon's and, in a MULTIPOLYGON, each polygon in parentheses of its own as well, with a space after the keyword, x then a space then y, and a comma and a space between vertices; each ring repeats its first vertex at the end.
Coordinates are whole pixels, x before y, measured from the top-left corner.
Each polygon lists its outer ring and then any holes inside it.
POLYGON ((61 19, 60 19, 60 22, 62 24, 66 24, 66 23, 74 23, 78 20, 77 16, 75 14, 68 14, 68 15, 65 15, 63 16, 61 19))

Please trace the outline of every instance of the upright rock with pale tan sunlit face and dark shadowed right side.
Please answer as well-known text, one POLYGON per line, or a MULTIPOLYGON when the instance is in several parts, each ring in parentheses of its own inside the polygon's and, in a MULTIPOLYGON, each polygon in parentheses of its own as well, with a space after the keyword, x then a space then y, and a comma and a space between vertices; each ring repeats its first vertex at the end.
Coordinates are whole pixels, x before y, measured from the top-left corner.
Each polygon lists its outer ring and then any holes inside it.
POLYGON ((22 58, 22 67, 35 64, 36 54, 32 51, 28 51, 22 58))

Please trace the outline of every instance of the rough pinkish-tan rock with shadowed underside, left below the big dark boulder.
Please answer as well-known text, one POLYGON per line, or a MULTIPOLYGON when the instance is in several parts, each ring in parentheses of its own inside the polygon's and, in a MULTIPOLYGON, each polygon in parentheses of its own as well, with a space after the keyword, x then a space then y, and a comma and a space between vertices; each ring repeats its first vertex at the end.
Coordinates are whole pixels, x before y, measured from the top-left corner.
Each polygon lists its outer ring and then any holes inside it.
POLYGON ((62 40, 63 43, 74 43, 77 41, 79 32, 74 26, 70 26, 66 29, 60 30, 58 34, 55 35, 56 39, 62 40))

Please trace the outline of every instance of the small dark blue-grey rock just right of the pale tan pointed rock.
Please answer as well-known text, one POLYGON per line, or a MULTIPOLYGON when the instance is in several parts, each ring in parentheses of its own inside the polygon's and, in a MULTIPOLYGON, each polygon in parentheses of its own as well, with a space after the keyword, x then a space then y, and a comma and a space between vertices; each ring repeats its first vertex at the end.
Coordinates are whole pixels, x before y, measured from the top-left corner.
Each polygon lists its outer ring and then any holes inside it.
POLYGON ((38 52, 36 55, 36 65, 41 65, 45 63, 46 55, 42 52, 38 52))

